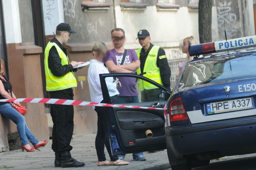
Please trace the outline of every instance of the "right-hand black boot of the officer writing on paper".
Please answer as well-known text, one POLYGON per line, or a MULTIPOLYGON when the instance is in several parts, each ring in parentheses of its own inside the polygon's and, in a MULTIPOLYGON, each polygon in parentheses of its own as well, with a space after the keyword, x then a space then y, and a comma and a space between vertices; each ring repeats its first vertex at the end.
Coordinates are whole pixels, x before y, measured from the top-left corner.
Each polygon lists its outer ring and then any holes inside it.
POLYGON ((85 166, 84 162, 79 162, 71 157, 70 152, 65 151, 61 153, 62 156, 62 168, 82 167, 85 166))

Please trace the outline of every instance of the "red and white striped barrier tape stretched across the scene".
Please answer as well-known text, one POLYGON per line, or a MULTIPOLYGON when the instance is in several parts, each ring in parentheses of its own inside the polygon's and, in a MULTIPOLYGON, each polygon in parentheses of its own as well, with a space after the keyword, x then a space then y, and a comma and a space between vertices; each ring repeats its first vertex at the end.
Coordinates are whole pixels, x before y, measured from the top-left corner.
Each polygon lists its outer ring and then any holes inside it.
POLYGON ((129 105, 122 105, 122 104, 94 103, 94 102, 85 102, 85 101, 79 101, 79 100, 66 100, 66 99, 55 99, 55 98, 12 98, 12 99, 1 99, 0 102, 25 102, 25 103, 44 103, 44 104, 62 104, 62 105, 78 105, 78 106, 101 106, 101 107, 140 108, 140 109, 163 110, 163 108, 129 106, 129 105))

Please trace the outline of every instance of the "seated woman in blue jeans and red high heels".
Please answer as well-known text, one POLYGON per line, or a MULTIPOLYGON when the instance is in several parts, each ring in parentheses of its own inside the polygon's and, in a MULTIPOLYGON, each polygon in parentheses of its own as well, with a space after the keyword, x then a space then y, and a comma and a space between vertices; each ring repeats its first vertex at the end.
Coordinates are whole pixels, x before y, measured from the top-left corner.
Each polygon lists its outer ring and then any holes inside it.
MULTIPOLYGON (((0 99, 10 99, 16 98, 12 92, 12 84, 7 80, 5 74, 4 61, 0 59, 1 70, 0 70, 0 99)), ((14 102, 14 104, 20 104, 19 102, 14 102)), ((47 144, 48 140, 44 142, 38 141, 35 136, 32 134, 28 128, 25 117, 20 114, 15 108, 12 107, 10 102, 0 102, 0 113, 12 120, 17 124, 18 134, 20 136, 21 148, 27 152, 33 152, 35 149, 40 150, 40 147, 43 147, 47 144), (28 143, 28 140, 33 144, 34 147, 31 147, 28 143)))

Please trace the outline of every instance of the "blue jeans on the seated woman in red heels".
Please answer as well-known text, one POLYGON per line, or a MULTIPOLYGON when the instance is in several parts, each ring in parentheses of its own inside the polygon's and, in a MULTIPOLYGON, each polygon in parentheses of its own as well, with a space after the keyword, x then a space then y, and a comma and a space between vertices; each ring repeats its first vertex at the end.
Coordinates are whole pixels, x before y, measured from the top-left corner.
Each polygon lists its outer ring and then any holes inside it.
POLYGON ((33 146, 39 142, 28 128, 25 117, 14 109, 10 103, 0 105, 0 113, 17 124, 22 145, 28 144, 28 140, 33 146))

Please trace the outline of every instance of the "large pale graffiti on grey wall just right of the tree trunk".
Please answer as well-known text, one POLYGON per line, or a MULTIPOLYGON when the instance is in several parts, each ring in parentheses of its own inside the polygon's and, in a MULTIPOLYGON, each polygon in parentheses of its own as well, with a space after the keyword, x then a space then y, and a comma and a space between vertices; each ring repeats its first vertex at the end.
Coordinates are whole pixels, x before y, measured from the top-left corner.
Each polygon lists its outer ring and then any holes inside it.
POLYGON ((237 1, 232 0, 219 0, 217 6, 217 17, 218 17, 218 31, 220 36, 223 38, 224 30, 228 38, 234 38, 240 36, 239 34, 239 10, 237 1), (236 6, 236 8, 234 8, 236 6), (230 26, 231 24, 231 26, 230 26))

